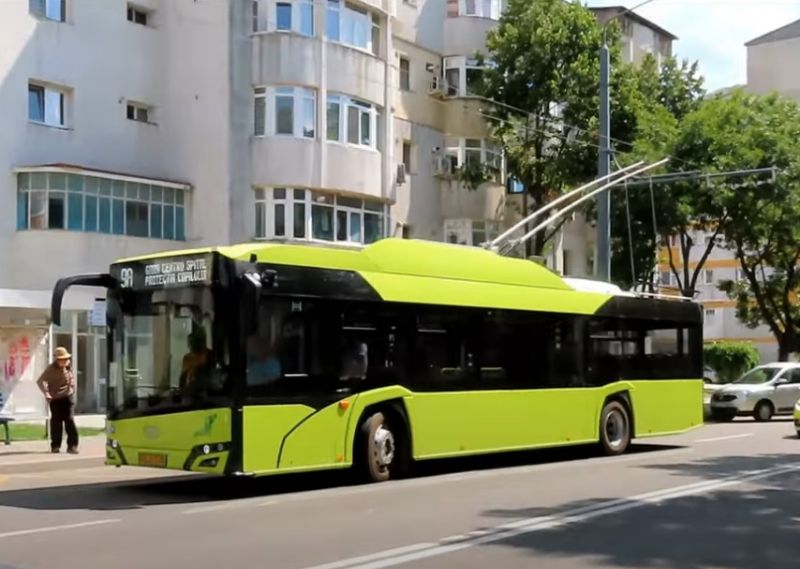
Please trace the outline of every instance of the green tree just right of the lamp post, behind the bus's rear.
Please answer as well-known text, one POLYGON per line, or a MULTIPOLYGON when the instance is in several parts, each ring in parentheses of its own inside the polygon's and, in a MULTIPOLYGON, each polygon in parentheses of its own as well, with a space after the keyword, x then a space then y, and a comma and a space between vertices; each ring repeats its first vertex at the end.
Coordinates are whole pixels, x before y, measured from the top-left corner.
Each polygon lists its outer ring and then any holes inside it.
MULTIPOLYGON (((680 137, 680 121, 702 101, 703 78, 697 62, 684 60, 679 64, 670 57, 659 68, 652 55, 645 57, 634 75, 634 96, 628 100, 634 105, 635 126, 632 144, 618 149, 624 153, 620 161, 659 160, 672 154, 680 137)), ((614 120, 616 117, 612 117, 614 120)), ((677 169, 681 163, 669 167, 677 169)), ((702 209, 703 195, 696 185, 657 185, 652 193, 649 188, 638 187, 625 194, 617 191, 617 195, 612 200, 612 276, 623 285, 652 283, 659 261, 659 241, 667 243, 670 236, 677 235, 682 243, 691 243, 690 229, 697 221, 698 209, 702 209), (634 267, 630 261, 631 244, 634 267)), ((687 260, 689 250, 681 249, 687 260)), ((683 266, 688 267, 688 262, 683 266)), ((681 275, 679 282, 686 285, 681 286, 684 293, 691 294, 699 271, 697 268, 691 275, 681 275)))

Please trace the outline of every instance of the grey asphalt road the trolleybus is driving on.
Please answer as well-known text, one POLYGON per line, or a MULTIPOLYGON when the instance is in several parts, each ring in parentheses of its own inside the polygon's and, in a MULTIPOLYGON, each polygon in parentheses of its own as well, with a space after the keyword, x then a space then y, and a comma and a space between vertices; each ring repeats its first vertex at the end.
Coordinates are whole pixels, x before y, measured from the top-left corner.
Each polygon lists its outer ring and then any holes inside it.
POLYGON ((11 474, 0 569, 796 569, 798 458, 792 423, 778 420, 708 425, 617 458, 446 461, 378 485, 11 474))

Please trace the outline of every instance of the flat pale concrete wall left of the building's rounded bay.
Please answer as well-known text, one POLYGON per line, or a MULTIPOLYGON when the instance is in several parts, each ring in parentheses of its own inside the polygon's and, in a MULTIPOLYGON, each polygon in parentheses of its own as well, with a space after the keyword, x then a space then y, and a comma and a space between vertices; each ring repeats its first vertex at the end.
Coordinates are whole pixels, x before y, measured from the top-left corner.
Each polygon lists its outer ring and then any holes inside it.
POLYGON ((11 174, 18 166, 73 163, 187 182, 195 204, 187 215, 189 243, 228 240, 229 29, 220 25, 228 7, 192 0, 146 5, 156 10, 153 27, 128 22, 123 0, 73 0, 66 23, 34 18, 27 0, 0 3, 0 266, 28 268, 2 271, 0 287, 48 288, 64 273, 186 245, 18 232, 11 174), (66 128, 28 121, 29 80, 69 89, 66 128), (155 124, 127 120, 127 100, 153 105, 155 124))

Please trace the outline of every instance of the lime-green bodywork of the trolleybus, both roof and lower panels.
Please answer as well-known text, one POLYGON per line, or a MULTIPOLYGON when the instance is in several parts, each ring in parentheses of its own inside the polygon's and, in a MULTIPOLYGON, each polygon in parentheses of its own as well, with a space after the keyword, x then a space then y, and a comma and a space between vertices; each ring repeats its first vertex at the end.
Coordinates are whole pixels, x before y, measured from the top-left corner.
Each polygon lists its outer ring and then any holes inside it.
MULTIPOLYGON (((385 302, 491 307, 591 315, 610 295, 580 292, 529 261, 490 251, 426 241, 385 239, 361 251, 301 245, 246 244, 167 252, 216 252, 260 263, 354 271, 385 302)), ((126 261, 140 260, 129 259, 126 261)), ((455 457, 599 441, 606 399, 629 399, 636 437, 683 432, 703 422, 701 379, 625 381, 598 388, 414 393, 396 386, 344 397, 321 409, 300 404, 245 406, 242 471, 269 475, 344 468, 368 409, 402 405, 414 459, 455 457)), ((237 444, 231 410, 214 409, 109 422, 108 463, 139 464, 139 453, 167 455, 167 468, 228 473, 227 451, 198 456, 198 445, 237 444), (213 422, 210 417, 216 417, 213 422), (153 429, 157 429, 156 431, 153 429), (155 435, 155 436, 154 436, 155 435), (219 457, 213 468, 201 460, 219 457)))

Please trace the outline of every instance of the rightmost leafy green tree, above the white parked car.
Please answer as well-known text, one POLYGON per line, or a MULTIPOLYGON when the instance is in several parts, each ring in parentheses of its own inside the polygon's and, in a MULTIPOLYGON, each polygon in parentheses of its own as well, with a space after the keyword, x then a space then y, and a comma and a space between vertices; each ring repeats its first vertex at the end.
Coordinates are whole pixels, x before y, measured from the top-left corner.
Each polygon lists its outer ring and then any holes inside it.
POLYGON ((704 102, 682 131, 682 155, 705 168, 777 168, 774 180, 718 185, 711 199, 744 277, 721 288, 745 324, 769 327, 785 360, 800 349, 800 105, 737 91, 704 102))

